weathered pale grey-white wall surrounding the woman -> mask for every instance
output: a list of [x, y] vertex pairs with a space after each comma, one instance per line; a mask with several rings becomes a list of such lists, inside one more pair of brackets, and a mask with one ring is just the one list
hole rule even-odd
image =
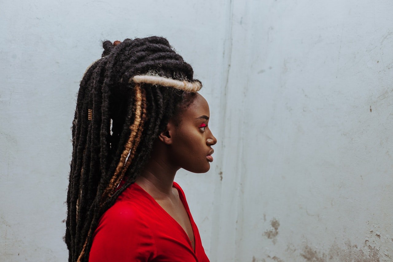
[[[66, 261], [71, 121], [102, 40], [163, 35], [219, 139], [181, 172], [211, 261], [393, 261], [393, 3], [2, 1], [0, 261]], [[371, 109], [371, 110], [370, 110]]]

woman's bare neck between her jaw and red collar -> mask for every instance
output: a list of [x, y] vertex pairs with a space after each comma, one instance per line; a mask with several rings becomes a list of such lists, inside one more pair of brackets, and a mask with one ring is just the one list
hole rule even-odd
[[152, 155], [141, 175], [136, 179], [141, 188], [148, 192], [154, 199], [163, 199], [173, 195], [172, 186], [174, 176], [179, 168], [169, 164], [165, 159], [167, 154], [152, 150]]

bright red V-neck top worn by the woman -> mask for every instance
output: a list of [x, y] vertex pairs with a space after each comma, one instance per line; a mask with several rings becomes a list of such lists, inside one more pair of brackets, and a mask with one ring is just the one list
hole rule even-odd
[[180, 186], [193, 228], [195, 252], [184, 229], [138, 184], [130, 185], [100, 218], [89, 261], [209, 262]]

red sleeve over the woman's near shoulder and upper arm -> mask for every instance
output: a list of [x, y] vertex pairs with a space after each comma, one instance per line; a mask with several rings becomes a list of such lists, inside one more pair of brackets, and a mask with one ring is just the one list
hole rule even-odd
[[156, 255], [151, 229], [138, 212], [112, 207], [94, 232], [89, 262], [150, 261]]

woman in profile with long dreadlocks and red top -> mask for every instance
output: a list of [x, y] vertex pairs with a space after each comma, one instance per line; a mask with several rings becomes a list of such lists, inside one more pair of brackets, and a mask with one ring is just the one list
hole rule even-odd
[[209, 261], [180, 168], [204, 173], [217, 140], [193, 69], [162, 37], [103, 43], [72, 127], [69, 261]]

